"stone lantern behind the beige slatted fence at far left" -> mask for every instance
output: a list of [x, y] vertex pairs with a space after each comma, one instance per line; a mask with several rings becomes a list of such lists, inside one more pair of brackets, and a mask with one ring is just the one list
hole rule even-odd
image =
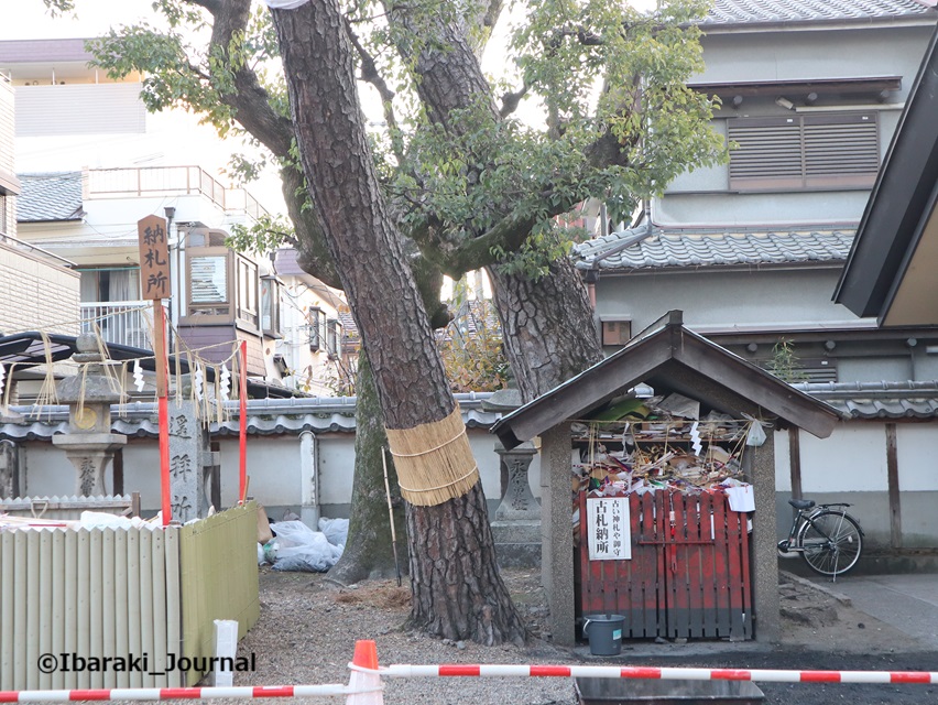
[[68, 433], [53, 436], [52, 443], [75, 466], [75, 494], [92, 497], [105, 494], [105, 470], [127, 436], [111, 433], [111, 404], [120, 401], [121, 392], [103, 373], [97, 337], [83, 333], [75, 347], [78, 352], [72, 359], [81, 369], [55, 386], [58, 400], [68, 404]]

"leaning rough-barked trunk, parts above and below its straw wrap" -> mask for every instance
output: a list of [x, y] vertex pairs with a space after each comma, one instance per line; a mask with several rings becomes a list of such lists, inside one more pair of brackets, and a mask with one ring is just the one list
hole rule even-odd
[[[374, 371], [385, 425], [413, 430], [439, 422], [456, 402], [379, 189], [338, 4], [315, 0], [274, 10], [273, 18], [301, 160]], [[454, 447], [471, 455], [465, 434]], [[526, 640], [499, 577], [491, 533], [477, 528], [488, 525], [479, 481], [443, 505], [411, 507], [408, 523], [416, 529], [410, 532], [415, 623], [483, 643]], [[449, 540], [433, 544], [439, 554], [430, 553], [439, 536]]]

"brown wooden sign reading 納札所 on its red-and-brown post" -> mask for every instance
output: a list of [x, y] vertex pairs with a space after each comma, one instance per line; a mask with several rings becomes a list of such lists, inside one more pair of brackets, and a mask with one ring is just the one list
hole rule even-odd
[[140, 241], [140, 284], [143, 299], [153, 301], [153, 354], [156, 357], [156, 402], [160, 414], [160, 492], [163, 525], [172, 520], [170, 497], [170, 404], [166, 356], [166, 315], [163, 299], [170, 297], [170, 241], [166, 219], [146, 216], [137, 223]]

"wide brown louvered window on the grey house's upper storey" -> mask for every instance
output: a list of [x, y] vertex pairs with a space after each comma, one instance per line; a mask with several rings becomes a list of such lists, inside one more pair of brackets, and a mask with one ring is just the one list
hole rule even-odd
[[876, 112], [727, 121], [730, 188], [869, 188], [880, 169]]

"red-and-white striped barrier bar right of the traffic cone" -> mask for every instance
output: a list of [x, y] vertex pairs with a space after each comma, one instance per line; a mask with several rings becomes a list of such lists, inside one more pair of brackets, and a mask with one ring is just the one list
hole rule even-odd
[[392, 677], [521, 676], [653, 679], [662, 681], [774, 681], [778, 683], [938, 683], [928, 671], [779, 671], [767, 669], [684, 669], [613, 665], [395, 664], [379, 669]]

